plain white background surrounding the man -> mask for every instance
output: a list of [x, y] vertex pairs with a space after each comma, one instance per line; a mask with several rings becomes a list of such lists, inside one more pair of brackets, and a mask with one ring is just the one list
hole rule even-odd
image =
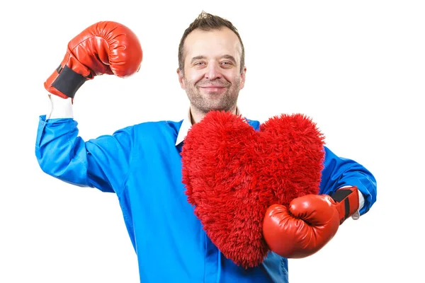
[[378, 180], [370, 212], [346, 221], [319, 253], [290, 260], [290, 282], [423, 280], [424, 2], [246, 2], [2, 2], [0, 282], [138, 282], [115, 195], [67, 185], [38, 166], [38, 117], [50, 109], [43, 82], [72, 37], [97, 21], [118, 21], [140, 37], [142, 69], [80, 88], [81, 136], [181, 120], [188, 100], [177, 49], [203, 10], [228, 18], [244, 40], [246, 117], [310, 115], [334, 153]]

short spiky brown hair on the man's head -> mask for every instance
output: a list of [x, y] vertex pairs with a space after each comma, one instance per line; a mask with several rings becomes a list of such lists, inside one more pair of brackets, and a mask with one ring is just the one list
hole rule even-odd
[[179, 69], [184, 74], [184, 54], [183, 54], [183, 45], [184, 41], [186, 40], [186, 37], [188, 37], [189, 33], [191, 33], [193, 30], [196, 30], [199, 28], [200, 30], [219, 30], [220, 28], [229, 28], [234, 32], [237, 37], [239, 38], [239, 42], [241, 42], [242, 46], [242, 54], [241, 54], [241, 72], [245, 67], [245, 49], [244, 44], [242, 43], [242, 39], [237, 31], [237, 28], [234, 27], [234, 25], [227, 21], [225, 18], [221, 18], [219, 16], [211, 15], [210, 13], [205, 13], [202, 11], [202, 13], [199, 14], [198, 18], [195, 19], [189, 25], [188, 28], [183, 33], [183, 36], [181, 37], [180, 44], [179, 44]]

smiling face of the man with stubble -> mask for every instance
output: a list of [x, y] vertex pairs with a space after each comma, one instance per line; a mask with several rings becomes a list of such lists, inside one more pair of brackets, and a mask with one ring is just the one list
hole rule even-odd
[[237, 35], [229, 28], [193, 30], [183, 50], [184, 74], [177, 72], [192, 110], [202, 114], [210, 110], [234, 111], [246, 72], [245, 67], [241, 72], [242, 46]]

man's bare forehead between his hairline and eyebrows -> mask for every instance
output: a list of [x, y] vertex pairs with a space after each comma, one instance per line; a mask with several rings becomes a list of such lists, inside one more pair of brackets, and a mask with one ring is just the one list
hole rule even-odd
[[221, 57], [232, 55], [239, 62], [242, 54], [239, 38], [229, 28], [193, 30], [186, 37], [183, 48], [186, 61], [197, 56]]

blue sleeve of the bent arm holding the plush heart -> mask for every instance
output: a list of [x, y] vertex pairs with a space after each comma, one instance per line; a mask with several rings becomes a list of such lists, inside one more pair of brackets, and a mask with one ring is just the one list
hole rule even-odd
[[320, 193], [331, 195], [341, 187], [356, 186], [363, 197], [359, 200], [359, 202], [363, 201], [363, 207], [361, 207], [359, 213], [363, 215], [368, 212], [376, 201], [377, 185], [373, 174], [356, 161], [336, 156], [326, 146], [324, 150], [324, 169]]

